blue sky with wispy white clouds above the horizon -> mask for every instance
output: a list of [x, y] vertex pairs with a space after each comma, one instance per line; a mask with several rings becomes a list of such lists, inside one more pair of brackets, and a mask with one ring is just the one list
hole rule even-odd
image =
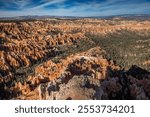
[[150, 14], [150, 0], [0, 0], [0, 17]]

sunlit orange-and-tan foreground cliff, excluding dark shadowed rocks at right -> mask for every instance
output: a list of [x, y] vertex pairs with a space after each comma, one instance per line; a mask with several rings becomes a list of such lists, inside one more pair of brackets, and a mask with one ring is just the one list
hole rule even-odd
[[[102, 51], [100, 48], [92, 50]], [[86, 54], [71, 55], [58, 63], [49, 60], [36, 67], [35, 75], [29, 76], [29, 84], [26, 84], [33, 89], [28, 94], [20, 90], [22, 96], [32, 99], [32, 92], [37, 99], [96, 99], [96, 90], [99, 90], [100, 81], [107, 77], [107, 70], [120, 68], [102, 57]]]

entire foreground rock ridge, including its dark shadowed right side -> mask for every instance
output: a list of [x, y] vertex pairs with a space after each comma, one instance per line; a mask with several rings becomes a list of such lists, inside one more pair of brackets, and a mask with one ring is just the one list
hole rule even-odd
[[[100, 48], [93, 50], [101, 51]], [[22, 85], [17, 99], [149, 99], [149, 72], [133, 77], [133, 66], [128, 72], [121, 70], [113, 61], [90, 56], [91, 50], [62, 59], [51, 60], [38, 66], [34, 76]], [[87, 55], [88, 54], [88, 55]], [[139, 76], [138, 75], [138, 76]], [[26, 89], [27, 88], [27, 89]], [[30, 90], [29, 90], [30, 89]]]

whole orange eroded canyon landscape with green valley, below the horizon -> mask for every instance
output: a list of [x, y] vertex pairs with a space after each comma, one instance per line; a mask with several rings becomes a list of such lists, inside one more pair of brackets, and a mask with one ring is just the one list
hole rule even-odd
[[150, 99], [150, 21], [0, 21], [0, 99]]

